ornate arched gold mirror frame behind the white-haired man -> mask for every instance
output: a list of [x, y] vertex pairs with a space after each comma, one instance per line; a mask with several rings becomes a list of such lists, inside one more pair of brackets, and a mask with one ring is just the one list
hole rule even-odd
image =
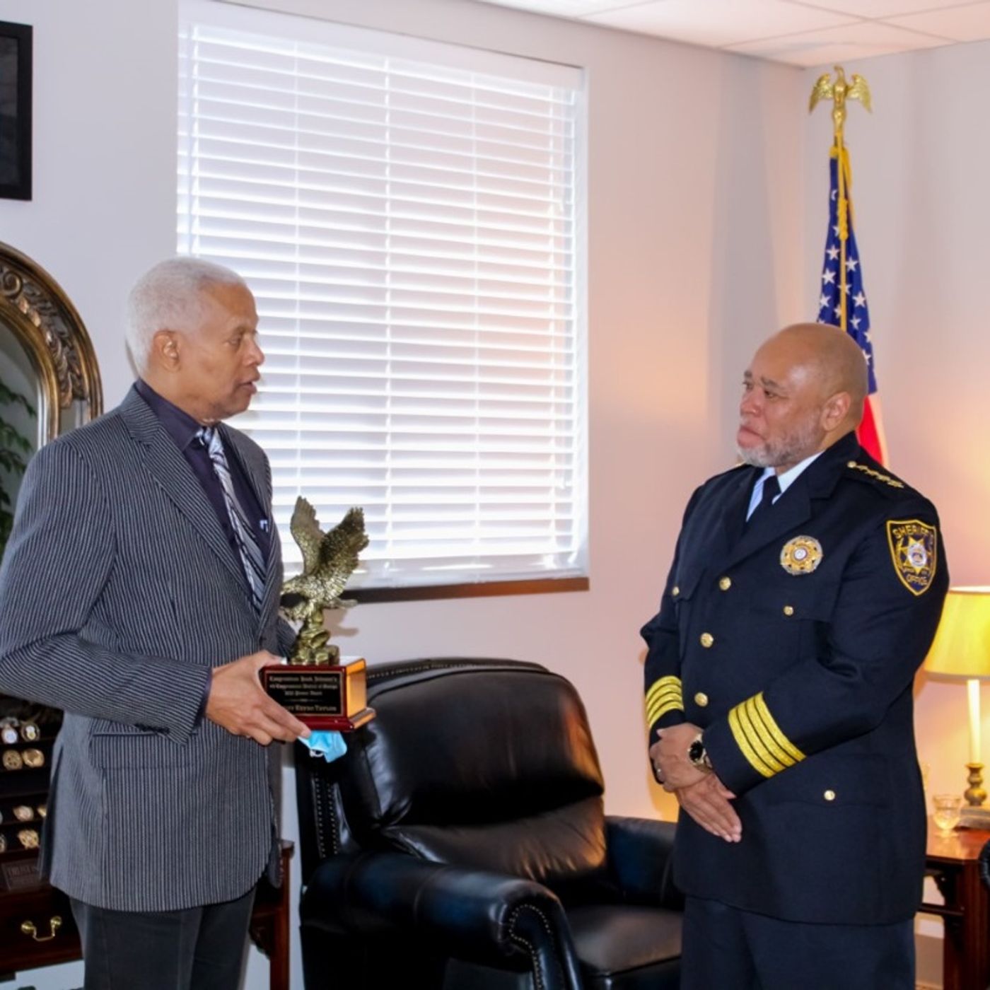
[[41, 443], [100, 415], [100, 372], [79, 314], [41, 265], [2, 243], [0, 325], [13, 332], [38, 376]]

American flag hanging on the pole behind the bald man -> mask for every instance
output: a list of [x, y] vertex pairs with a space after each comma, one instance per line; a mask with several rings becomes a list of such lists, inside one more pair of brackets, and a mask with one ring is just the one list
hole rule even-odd
[[840, 304], [841, 226], [839, 217], [839, 156], [832, 149], [829, 165], [829, 236], [825, 242], [825, 265], [822, 268], [822, 294], [818, 298], [818, 322], [831, 323], [842, 329], [859, 345], [869, 369], [869, 394], [863, 409], [863, 421], [856, 431], [860, 445], [880, 463], [887, 462], [887, 446], [880, 424], [880, 396], [876, 390], [876, 368], [873, 364], [873, 344], [869, 334], [869, 307], [863, 291], [862, 265], [859, 248], [852, 230], [852, 198], [849, 195], [849, 159], [842, 149], [843, 184], [848, 203], [848, 236], [845, 241], [845, 325], [842, 326]]

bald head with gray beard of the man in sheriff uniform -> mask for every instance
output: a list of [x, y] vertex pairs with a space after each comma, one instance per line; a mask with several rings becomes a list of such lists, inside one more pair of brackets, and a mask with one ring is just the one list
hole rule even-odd
[[746, 369], [740, 455], [778, 472], [793, 467], [858, 426], [867, 387], [862, 351], [838, 327], [785, 327]]

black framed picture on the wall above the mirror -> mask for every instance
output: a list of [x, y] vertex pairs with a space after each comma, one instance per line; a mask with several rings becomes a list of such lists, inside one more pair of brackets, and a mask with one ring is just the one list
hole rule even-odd
[[31, 199], [31, 44], [31, 25], [0, 21], [0, 198], [3, 199]]

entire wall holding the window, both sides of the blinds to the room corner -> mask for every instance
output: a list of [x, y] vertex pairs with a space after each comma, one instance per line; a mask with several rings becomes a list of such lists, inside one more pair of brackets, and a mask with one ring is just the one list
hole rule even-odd
[[[342, 643], [372, 662], [545, 662], [586, 701], [609, 810], [669, 817], [644, 759], [638, 630], [691, 489], [731, 462], [749, 351], [806, 313], [802, 73], [467, 0], [267, 6], [588, 70], [591, 591], [360, 606]], [[75, 302], [108, 407], [131, 380], [126, 291], [174, 246], [175, 18], [175, 0], [0, 0], [0, 19], [36, 30], [35, 199], [0, 201], [0, 241]], [[298, 949], [294, 972], [301, 985]], [[22, 982], [80, 980], [75, 967]], [[248, 985], [265, 985], [256, 954]]]

